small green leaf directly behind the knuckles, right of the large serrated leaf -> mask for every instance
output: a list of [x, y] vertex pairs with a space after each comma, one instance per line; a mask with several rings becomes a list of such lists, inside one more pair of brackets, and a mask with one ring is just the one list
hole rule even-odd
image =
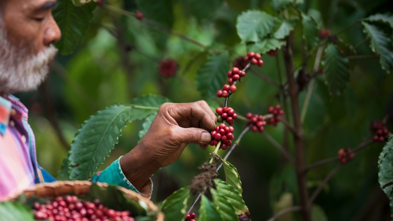
[[129, 113], [128, 122], [135, 120], [142, 120], [149, 115], [156, 114], [161, 104], [165, 102], [171, 102], [168, 98], [161, 95], [145, 94], [140, 97], [134, 98], [131, 104], [133, 106], [133, 112]]

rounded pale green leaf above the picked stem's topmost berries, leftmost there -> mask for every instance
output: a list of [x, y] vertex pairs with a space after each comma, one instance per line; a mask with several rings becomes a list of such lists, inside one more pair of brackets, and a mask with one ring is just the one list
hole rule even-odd
[[261, 11], [243, 12], [237, 17], [236, 29], [242, 42], [257, 42], [271, 33], [274, 17]]

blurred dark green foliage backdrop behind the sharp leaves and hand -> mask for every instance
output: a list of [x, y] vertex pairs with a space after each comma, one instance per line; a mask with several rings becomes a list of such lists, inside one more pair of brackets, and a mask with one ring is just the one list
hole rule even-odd
[[[173, 102], [214, 99], [214, 96], [200, 94], [195, 86], [198, 69], [209, 56], [207, 50], [227, 51], [231, 60], [244, 56], [246, 47], [236, 31], [237, 17], [249, 9], [277, 15], [271, 1], [108, 0], [105, 3], [129, 12], [141, 10], [146, 18], [205, 46], [133, 17], [96, 7], [87, 33], [75, 52], [57, 57], [50, 76], [37, 91], [17, 94], [30, 109], [29, 122], [36, 135], [38, 161], [54, 176], [80, 125], [106, 106], [128, 103], [147, 93], [161, 94]], [[88, 7], [94, 6], [89, 4]], [[391, 12], [393, 8], [388, 0], [305, 0], [300, 9], [316, 20], [318, 28], [329, 28], [332, 33], [338, 33], [360, 18]], [[294, 28], [295, 33], [301, 34], [298, 29]], [[341, 33], [340, 38], [355, 46], [366, 38], [362, 30], [361, 24], [357, 23]], [[300, 44], [295, 44], [295, 68], [302, 63], [301, 49]], [[372, 54], [368, 43], [361, 44], [357, 51], [358, 54]], [[167, 58], [178, 63], [174, 77], [164, 78], [159, 74], [159, 62]], [[265, 114], [269, 106], [282, 104], [279, 89], [260, 77], [263, 73], [279, 82], [277, 58], [283, 72], [281, 51], [277, 57], [264, 54], [264, 67], [254, 68], [257, 72], [248, 72], [244, 81], [239, 83], [229, 104], [236, 113], [243, 116], [247, 112]], [[312, 59], [309, 62], [313, 64]], [[323, 76], [316, 78], [304, 121], [308, 164], [336, 156], [339, 148], [356, 147], [370, 134], [372, 120], [381, 120], [393, 112], [392, 75], [381, 69], [378, 59], [350, 61], [350, 66], [353, 71], [349, 84], [338, 96], [330, 95]], [[210, 85], [209, 79], [206, 85]], [[305, 91], [302, 91], [301, 104], [304, 96]], [[136, 145], [142, 123], [129, 124], [123, 130], [119, 144], [102, 168]], [[237, 121], [234, 127], [236, 136], [244, 122]], [[283, 144], [283, 129], [284, 126], [279, 124], [276, 128], [268, 128], [267, 133]], [[318, 217], [326, 216], [329, 220], [385, 220], [390, 217], [387, 197], [377, 182], [377, 159], [381, 148], [382, 144], [373, 144], [364, 149], [334, 176], [315, 201], [320, 206], [315, 211], [322, 213]], [[153, 177], [152, 200], [159, 203], [173, 191], [188, 185], [199, 173], [198, 165], [206, 161], [212, 151], [213, 147], [203, 151], [189, 145], [178, 161]], [[253, 220], [271, 217], [282, 196], [282, 204], [292, 204], [288, 200], [292, 196], [295, 198], [293, 204], [298, 204], [296, 177], [291, 165], [283, 163], [279, 151], [263, 135], [247, 133], [228, 160], [241, 176], [243, 198]], [[310, 172], [307, 177], [310, 190], [315, 189], [336, 164]], [[290, 193], [289, 197], [285, 198], [288, 195], [283, 193]]]

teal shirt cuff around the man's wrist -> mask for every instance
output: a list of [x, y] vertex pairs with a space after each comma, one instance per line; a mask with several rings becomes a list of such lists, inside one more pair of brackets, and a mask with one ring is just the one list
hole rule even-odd
[[117, 186], [121, 186], [127, 188], [129, 190], [133, 190], [142, 196], [150, 199], [153, 191], [153, 182], [150, 179], [149, 183], [145, 185], [141, 190], [137, 190], [131, 182], [125, 177], [123, 171], [120, 167], [120, 156], [118, 159], [112, 162], [105, 170], [101, 173], [96, 173], [93, 178], [92, 182], [102, 182], [108, 184], [114, 184]]

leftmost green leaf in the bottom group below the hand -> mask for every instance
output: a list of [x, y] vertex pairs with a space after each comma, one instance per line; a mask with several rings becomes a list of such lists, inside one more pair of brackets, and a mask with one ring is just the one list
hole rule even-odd
[[184, 219], [187, 200], [190, 197], [189, 188], [183, 187], [172, 193], [162, 202], [161, 211], [165, 214], [165, 220]]

